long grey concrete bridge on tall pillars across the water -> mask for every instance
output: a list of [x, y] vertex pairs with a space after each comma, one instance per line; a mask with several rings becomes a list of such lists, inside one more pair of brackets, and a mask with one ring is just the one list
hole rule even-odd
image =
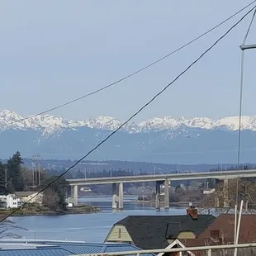
[[[229, 206], [228, 200], [228, 180], [232, 178], [250, 178], [256, 177], [256, 169], [252, 170], [230, 170], [220, 172], [202, 172], [202, 173], [171, 173], [171, 174], [157, 174], [157, 175], [138, 175], [138, 176], [124, 176], [124, 177], [107, 177], [107, 178], [78, 178], [68, 179], [70, 186], [73, 188], [73, 204], [78, 205], [78, 186], [85, 185], [99, 185], [99, 184], [112, 184], [112, 209], [123, 209], [123, 183], [144, 183], [155, 182], [156, 183], [156, 198], [155, 208], [160, 209], [160, 186], [164, 184], [164, 209], [169, 208], [169, 184], [171, 181], [183, 181], [194, 179], [220, 179], [224, 181], [224, 207]], [[117, 192], [117, 184], [118, 192]]]

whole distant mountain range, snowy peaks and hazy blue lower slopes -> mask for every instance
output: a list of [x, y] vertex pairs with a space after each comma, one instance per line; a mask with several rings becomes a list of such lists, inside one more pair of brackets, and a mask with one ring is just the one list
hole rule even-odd
[[[24, 120], [13, 111], [0, 111], [0, 159], [17, 150], [30, 158], [78, 159], [105, 140], [121, 121], [98, 116], [84, 121], [41, 115]], [[23, 121], [22, 121], [23, 120]], [[235, 163], [239, 118], [175, 119], [170, 116], [131, 122], [88, 159], [154, 163]], [[256, 116], [243, 116], [241, 161], [255, 162]]]

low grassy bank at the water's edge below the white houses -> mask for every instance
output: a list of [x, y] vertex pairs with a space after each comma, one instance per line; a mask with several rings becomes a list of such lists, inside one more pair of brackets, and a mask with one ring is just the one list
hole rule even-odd
[[[8, 215], [15, 209], [11, 210], [0, 210], [0, 215]], [[40, 205], [29, 205], [24, 206], [19, 209], [12, 216], [58, 216], [58, 215], [68, 215], [68, 214], [86, 214], [86, 213], [96, 213], [101, 211], [98, 207], [93, 206], [74, 206], [66, 209], [51, 210], [48, 207]]]

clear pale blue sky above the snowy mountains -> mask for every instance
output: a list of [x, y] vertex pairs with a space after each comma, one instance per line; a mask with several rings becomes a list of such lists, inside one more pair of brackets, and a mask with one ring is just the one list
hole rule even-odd
[[[113, 83], [175, 50], [250, 1], [2, 1], [0, 110], [28, 116]], [[245, 12], [243, 12], [245, 13]], [[241, 17], [242, 14], [239, 14]], [[52, 111], [125, 120], [232, 26], [233, 18], [159, 64], [92, 97]], [[135, 121], [239, 113], [239, 45], [252, 14]], [[256, 20], [248, 44], [256, 43]], [[256, 115], [256, 50], [245, 54], [243, 114]]]

